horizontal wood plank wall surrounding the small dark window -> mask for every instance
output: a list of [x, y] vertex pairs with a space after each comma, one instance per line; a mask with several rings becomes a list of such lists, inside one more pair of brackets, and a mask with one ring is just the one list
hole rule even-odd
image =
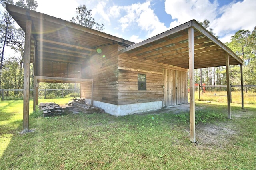
[[[138, 74], [146, 75], [146, 90], [138, 90]], [[118, 56], [118, 105], [163, 100], [163, 69], [160, 65], [126, 55]]]

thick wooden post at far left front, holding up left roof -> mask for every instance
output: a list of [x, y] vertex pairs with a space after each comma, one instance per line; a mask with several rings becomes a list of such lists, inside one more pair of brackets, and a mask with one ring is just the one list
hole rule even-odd
[[24, 50], [24, 81], [23, 81], [23, 132], [28, 132], [29, 128], [29, 77], [30, 77], [30, 43], [31, 43], [31, 25], [27, 20], [25, 32], [25, 50]]

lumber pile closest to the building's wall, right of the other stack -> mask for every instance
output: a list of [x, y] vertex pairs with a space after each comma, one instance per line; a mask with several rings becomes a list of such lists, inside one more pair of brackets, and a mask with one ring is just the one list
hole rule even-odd
[[98, 109], [95, 107], [91, 107], [89, 105], [87, 105], [85, 103], [85, 99], [83, 98], [73, 98], [71, 99], [72, 101], [68, 102], [66, 104], [66, 109], [68, 109], [68, 111], [73, 112], [74, 114], [76, 113], [99, 113], [99, 112], [104, 112], [104, 110], [102, 109]]

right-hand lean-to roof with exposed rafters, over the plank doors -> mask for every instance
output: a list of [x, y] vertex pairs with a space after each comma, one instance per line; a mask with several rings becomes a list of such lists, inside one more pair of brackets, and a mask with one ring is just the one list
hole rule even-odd
[[229, 54], [230, 65], [243, 61], [231, 49], [203, 28], [196, 20], [191, 20], [148, 40], [136, 43], [118, 53], [130, 57], [188, 69], [188, 28], [194, 28], [195, 68], [226, 65]]

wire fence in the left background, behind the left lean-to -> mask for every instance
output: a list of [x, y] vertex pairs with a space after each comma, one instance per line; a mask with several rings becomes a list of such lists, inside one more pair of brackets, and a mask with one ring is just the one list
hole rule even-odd
[[[1, 100], [23, 99], [23, 89], [1, 89]], [[34, 90], [30, 89], [30, 98]], [[78, 97], [80, 89], [38, 89], [38, 98], [52, 99], [63, 97]]]

